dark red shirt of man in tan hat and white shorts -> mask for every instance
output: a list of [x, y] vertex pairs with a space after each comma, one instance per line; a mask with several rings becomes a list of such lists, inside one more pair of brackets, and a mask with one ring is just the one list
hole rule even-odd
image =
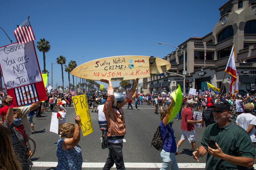
[[181, 129], [191, 131], [194, 128], [193, 123], [188, 123], [187, 120], [194, 120], [192, 108], [186, 107], [182, 110]]

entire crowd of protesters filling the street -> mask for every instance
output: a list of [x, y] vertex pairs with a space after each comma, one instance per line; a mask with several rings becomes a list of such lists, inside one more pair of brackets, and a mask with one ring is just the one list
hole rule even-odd
[[[160, 134], [163, 139], [163, 146], [160, 153], [162, 158], [161, 170], [179, 169], [176, 156], [181, 155], [179, 147], [186, 140], [191, 143], [193, 158], [199, 162], [200, 157], [207, 154], [205, 169], [254, 169], [255, 158], [255, 126], [256, 126], [256, 102], [254, 95], [242, 97], [236, 94], [234, 98], [230, 94], [223, 95], [198, 95], [185, 96], [183, 98], [180, 112], [175, 119], [181, 119], [181, 138], [176, 143], [173, 121], [169, 122], [175, 102], [169, 94], [147, 94], [139, 95], [135, 93], [138, 79], [134, 80], [134, 85], [129, 92], [114, 93], [112, 83], [108, 79], [101, 79], [101, 82], [108, 84], [107, 94], [101, 95], [100, 103], [97, 102], [97, 91], [90, 95], [92, 112], [99, 115], [99, 125], [107, 125], [107, 139], [109, 153], [104, 170], [110, 169], [116, 164], [117, 169], [125, 169], [123, 159], [123, 138], [126, 134], [124, 111], [122, 107], [128, 103], [128, 108], [132, 108], [132, 101], [135, 107], [140, 107], [143, 102], [147, 104], [153, 102], [155, 113], [160, 111]], [[41, 117], [42, 112], [50, 112], [53, 107], [58, 107], [57, 117], [59, 119], [60, 138], [57, 142], [58, 166], [56, 169], [81, 169], [83, 158], [80, 140], [80, 117], [75, 116], [75, 124], [66, 122], [65, 105], [71, 106], [72, 98], [68, 94], [48, 94], [44, 102], [33, 103], [19, 108], [9, 107], [12, 97], [7, 94], [0, 95], [1, 108], [0, 115], [1, 128], [1, 149], [0, 166], [2, 169], [23, 169], [29, 168], [33, 164], [30, 160], [32, 151], [28, 139], [34, 134], [33, 116]], [[89, 102], [88, 102], [89, 103]], [[97, 104], [99, 106], [97, 106]], [[167, 109], [165, 109], [167, 108]], [[202, 109], [202, 119], [194, 120], [192, 110]], [[230, 121], [231, 114], [237, 115], [235, 123]], [[199, 147], [195, 143], [194, 124], [201, 123], [205, 126], [205, 131]], [[7, 135], [8, 134], [8, 135]], [[103, 133], [102, 133], [103, 137]], [[177, 137], [177, 136], [176, 136]], [[228, 140], [226, 140], [228, 138]], [[5, 159], [6, 158], [6, 159]], [[11, 163], [7, 161], [12, 160]]]

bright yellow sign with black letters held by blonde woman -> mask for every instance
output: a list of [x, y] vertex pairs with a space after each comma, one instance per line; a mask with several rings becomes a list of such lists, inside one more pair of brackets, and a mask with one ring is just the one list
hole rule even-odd
[[92, 120], [86, 94], [73, 96], [72, 99], [75, 107], [75, 112], [81, 118], [80, 124], [81, 129], [83, 131], [83, 135], [86, 136], [93, 132]]

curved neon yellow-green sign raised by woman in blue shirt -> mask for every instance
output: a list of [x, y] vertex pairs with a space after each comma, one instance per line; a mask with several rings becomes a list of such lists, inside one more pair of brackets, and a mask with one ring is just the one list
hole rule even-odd
[[174, 92], [172, 92], [170, 95], [173, 98], [175, 105], [171, 114], [171, 117], [168, 121], [168, 123], [177, 115], [177, 113], [179, 113], [179, 111], [181, 110], [181, 105], [182, 105], [182, 100], [183, 100], [183, 96], [182, 96], [182, 92], [181, 92], [181, 87], [180, 84], [178, 85], [178, 89], [175, 90]]

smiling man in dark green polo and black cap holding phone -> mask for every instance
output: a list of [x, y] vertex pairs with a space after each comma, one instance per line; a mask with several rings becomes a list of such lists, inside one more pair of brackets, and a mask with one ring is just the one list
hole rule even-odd
[[[245, 170], [252, 167], [255, 148], [249, 134], [240, 126], [229, 121], [232, 106], [221, 100], [211, 106], [216, 123], [207, 126], [203, 133], [201, 146], [193, 152], [193, 158], [199, 158], [207, 152], [205, 169], [207, 170]], [[217, 149], [208, 146], [208, 139], [215, 140]]]

